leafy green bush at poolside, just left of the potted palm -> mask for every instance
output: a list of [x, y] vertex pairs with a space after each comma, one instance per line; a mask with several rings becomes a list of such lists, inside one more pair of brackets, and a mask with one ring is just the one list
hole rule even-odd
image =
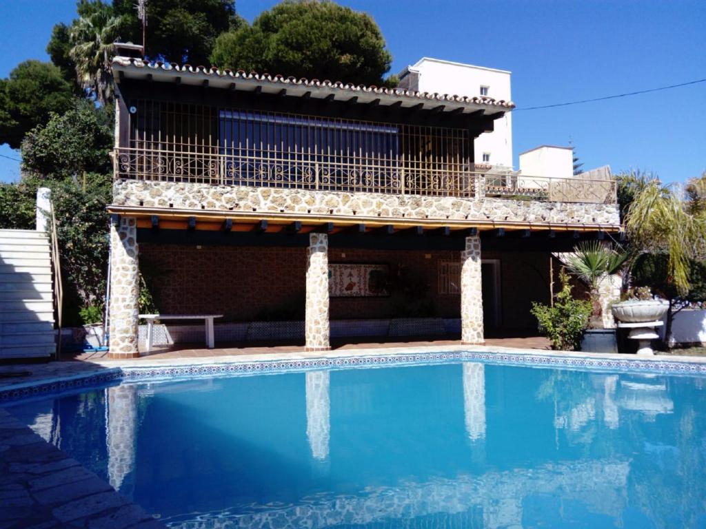
[[539, 322], [539, 332], [551, 341], [551, 348], [560, 351], [578, 351], [581, 339], [591, 317], [590, 301], [574, 299], [569, 276], [562, 269], [559, 274], [561, 291], [554, 305], [532, 303], [532, 315]]

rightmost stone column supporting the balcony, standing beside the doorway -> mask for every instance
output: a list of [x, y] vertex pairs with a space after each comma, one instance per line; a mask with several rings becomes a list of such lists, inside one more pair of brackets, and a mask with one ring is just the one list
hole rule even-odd
[[483, 344], [483, 295], [481, 292], [481, 238], [466, 237], [461, 253], [461, 341]]

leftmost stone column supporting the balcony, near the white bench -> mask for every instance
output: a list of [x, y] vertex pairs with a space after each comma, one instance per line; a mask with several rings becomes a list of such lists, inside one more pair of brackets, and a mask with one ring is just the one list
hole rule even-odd
[[136, 358], [138, 352], [137, 219], [120, 217], [110, 225], [110, 358]]

